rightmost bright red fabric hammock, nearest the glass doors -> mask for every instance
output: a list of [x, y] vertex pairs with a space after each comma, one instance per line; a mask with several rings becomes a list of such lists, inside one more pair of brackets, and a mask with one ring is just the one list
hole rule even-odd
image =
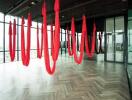
[[85, 36], [85, 48], [86, 48], [86, 54], [89, 58], [92, 58], [94, 55], [94, 51], [95, 51], [95, 33], [96, 33], [96, 25], [95, 22], [93, 24], [93, 34], [92, 34], [92, 44], [91, 44], [91, 50], [89, 48], [89, 40], [88, 40], [88, 36], [87, 36], [87, 32], [86, 32], [86, 36]]

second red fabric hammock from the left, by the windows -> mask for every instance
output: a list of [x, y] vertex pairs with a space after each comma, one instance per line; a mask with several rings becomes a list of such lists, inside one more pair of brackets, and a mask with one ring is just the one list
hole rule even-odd
[[22, 63], [25, 66], [29, 65], [30, 61], [30, 40], [31, 40], [31, 14], [28, 14], [28, 27], [27, 27], [27, 48], [25, 49], [25, 37], [24, 37], [24, 17], [22, 17], [22, 26], [21, 26], [21, 57]]

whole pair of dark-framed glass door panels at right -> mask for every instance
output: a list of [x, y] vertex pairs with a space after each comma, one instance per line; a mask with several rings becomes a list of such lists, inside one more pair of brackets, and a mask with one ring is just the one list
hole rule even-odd
[[106, 19], [107, 61], [124, 62], [124, 17]]

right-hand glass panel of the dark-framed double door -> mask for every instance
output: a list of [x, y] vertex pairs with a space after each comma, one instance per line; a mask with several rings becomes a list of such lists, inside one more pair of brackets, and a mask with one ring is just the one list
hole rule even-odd
[[124, 62], [124, 17], [115, 18], [115, 61]]

